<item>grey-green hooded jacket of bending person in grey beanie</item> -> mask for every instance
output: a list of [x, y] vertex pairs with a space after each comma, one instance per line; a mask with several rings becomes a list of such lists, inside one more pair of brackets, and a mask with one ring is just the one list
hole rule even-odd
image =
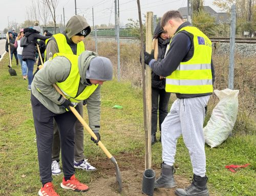
[[[86, 71], [89, 68], [90, 61], [93, 56], [97, 56], [92, 51], [84, 51], [78, 57], [78, 69], [80, 75], [80, 84], [78, 91], [82, 91], [88, 85], [94, 85], [87, 81]], [[32, 94], [46, 107], [55, 114], [65, 113], [66, 110], [60, 106], [65, 101], [63, 97], [54, 89], [53, 85], [56, 82], [65, 81], [70, 73], [71, 63], [64, 56], [57, 56], [52, 60], [45, 62], [44, 67], [37, 72], [32, 84]], [[59, 99], [59, 100], [58, 100]], [[89, 116], [89, 126], [97, 132], [100, 124], [100, 85], [87, 99], [87, 110]]]

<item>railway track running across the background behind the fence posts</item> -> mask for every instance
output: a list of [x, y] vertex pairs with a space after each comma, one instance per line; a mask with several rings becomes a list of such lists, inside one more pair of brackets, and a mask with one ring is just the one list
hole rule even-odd
[[[94, 37], [94, 36], [90, 36]], [[115, 38], [115, 36], [97, 36], [101, 38]], [[120, 39], [139, 39], [138, 37], [120, 37]], [[211, 42], [226, 42], [230, 41], [230, 38], [221, 38], [221, 37], [211, 37]], [[236, 38], [236, 43], [256, 43], [256, 39], [253, 38]]]

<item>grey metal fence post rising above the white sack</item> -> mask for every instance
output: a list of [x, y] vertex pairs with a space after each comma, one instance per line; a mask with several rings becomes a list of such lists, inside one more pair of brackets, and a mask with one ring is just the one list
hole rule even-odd
[[236, 38], [236, 5], [231, 6], [228, 88], [234, 89], [234, 49]]

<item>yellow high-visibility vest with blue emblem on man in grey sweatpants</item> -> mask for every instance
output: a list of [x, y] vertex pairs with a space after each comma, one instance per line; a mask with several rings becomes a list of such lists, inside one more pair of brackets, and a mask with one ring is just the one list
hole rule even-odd
[[180, 94], [211, 93], [211, 41], [196, 27], [184, 27], [178, 32], [180, 31], [194, 36], [191, 43], [194, 44], [194, 54], [188, 61], [181, 62], [178, 68], [166, 77], [165, 91]]

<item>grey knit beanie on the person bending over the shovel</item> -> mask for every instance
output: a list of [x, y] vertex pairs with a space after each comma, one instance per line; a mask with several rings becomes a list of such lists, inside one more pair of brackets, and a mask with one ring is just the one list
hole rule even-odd
[[112, 80], [113, 77], [113, 66], [110, 59], [97, 56], [90, 62], [89, 68], [86, 71], [87, 79], [95, 80]]

